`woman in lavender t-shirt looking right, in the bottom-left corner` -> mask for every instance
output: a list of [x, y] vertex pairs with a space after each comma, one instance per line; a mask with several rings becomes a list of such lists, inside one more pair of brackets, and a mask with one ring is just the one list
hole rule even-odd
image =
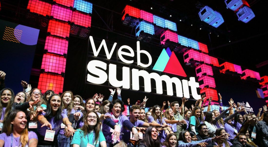
[[[27, 131], [27, 119], [24, 112], [14, 110], [4, 121], [0, 134], [0, 146], [36, 147], [38, 138], [35, 132]], [[26, 139], [27, 138], [27, 139]]]

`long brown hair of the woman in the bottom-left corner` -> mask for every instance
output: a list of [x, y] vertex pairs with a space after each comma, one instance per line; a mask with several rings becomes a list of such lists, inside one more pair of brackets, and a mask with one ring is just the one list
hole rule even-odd
[[[6, 133], [7, 136], [12, 134], [13, 124], [11, 124], [11, 122], [15, 119], [18, 112], [23, 112], [23, 111], [14, 110], [14, 111], [9, 113], [8, 117], [3, 121], [4, 125], [2, 128], [2, 133]], [[29, 142], [27, 124], [25, 124], [25, 128], [23, 129], [22, 133], [20, 134], [20, 142], [21, 142], [21, 147], [25, 147]]]

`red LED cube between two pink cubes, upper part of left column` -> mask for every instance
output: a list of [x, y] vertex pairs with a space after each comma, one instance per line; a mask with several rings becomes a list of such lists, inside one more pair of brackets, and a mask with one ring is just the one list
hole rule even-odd
[[64, 22], [51, 19], [49, 20], [47, 32], [50, 32], [51, 35], [57, 35], [60, 37], [69, 37], [70, 25], [68, 23], [64, 23]]

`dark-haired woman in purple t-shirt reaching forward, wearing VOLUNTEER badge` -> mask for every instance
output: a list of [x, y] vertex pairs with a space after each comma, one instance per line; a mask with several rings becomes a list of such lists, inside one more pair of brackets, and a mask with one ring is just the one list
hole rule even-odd
[[[63, 103], [61, 97], [58, 94], [53, 94], [49, 97], [47, 102], [46, 113], [42, 112], [37, 116], [38, 119], [38, 145], [42, 146], [58, 146], [57, 136], [59, 134], [59, 128], [61, 123], [67, 126], [65, 135], [70, 137], [73, 136], [75, 130], [72, 128], [72, 123], [70, 123], [66, 114], [62, 113]], [[50, 129], [55, 131], [53, 141], [45, 141], [46, 131]], [[56, 139], [55, 139], [56, 138]]]

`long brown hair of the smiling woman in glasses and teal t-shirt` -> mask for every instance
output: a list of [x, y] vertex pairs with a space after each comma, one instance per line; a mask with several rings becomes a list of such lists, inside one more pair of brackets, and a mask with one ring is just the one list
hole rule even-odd
[[[96, 125], [94, 126], [94, 132], [95, 132], [95, 138], [94, 138], [94, 140], [95, 140], [95, 142], [98, 142], [98, 139], [99, 139], [99, 132], [100, 132], [100, 130], [101, 130], [101, 123], [100, 123], [100, 118], [99, 118], [99, 116], [98, 116], [98, 113], [97, 112], [95, 112], [94, 110], [93, 111], [89, 111], [89, 112], [87, 112], [86, 113], [86, 115], [85, 115], [85, 119], [84, 119], [84, 126], [81, 128], [81, 130], [82, 131], [84, 131], [84, 136], [86, 136], [88, 133], [89, 133], [89, 127], [88, 127], [88, 125], [87, 125], [87, 116], [88, 116], [88, 114], [89, 113], [95, 113], [96, 114], [96, 116], [97, 116], [97, 120], [96, 120]], [[94, 143], [94, 142], [93, 142]]]

